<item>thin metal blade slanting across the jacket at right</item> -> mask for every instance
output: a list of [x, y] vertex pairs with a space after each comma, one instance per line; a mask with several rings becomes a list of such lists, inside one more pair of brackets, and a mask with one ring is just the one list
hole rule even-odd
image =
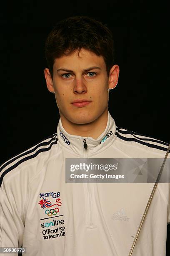
[[158, 177], [157, 177], [157, 179], [156, 179], [156, 181], [155, 181], [153, 190], [152, 190], [152, 192], [151, 192], [151, 194], [150, 194], [150, 198], [149, 198], [149, 200], [148, 200], [148, 203], [147, 203], [147, 205], [146, 205], [146, 208], [145, 208], [145, 211], [144, 211], [144, 213], [143, 213], [142, 219], [141, 219], [141, 221], [140, 221], [140, 225], [139, 225], [138, 231], [137, 231], [137, 233], [136, 233], [136, 236], [135, 236], [135, 238], [134, 238], [134, 240], [133, 240], [133, 244], [132, 244], [132, 247], [131, 247], [131, 249], [130, 249], [129, 256], [131, 256], [132, 253], [133, 253], [133, 248], [134, 248], [135, 243], [136, 243], [136, 241], [137, 241], [137, 238], [138, 238], [138, 236], [139, 236], [140, 229], [141, 229], [141, 227], [142, 227], [143, 221], [144, 221], [144, 219], [145, 219], [145, 215], [146, 215], [146, 213], [147, 213], [147, 211], [148, 211], [148, 208], [149, 208], [150, 203], [151, 203], [151, 200], [152, 200], [152, 198], [153, 198], [155, 189], [156, 189], [157, 184], [158, 184], [158, 182], [159, 182], [160, 175], [161, 175], [161, 173], [162, 173], [162, 171], [163, 171], [163, 167], [164, 167], [164, 165], [165, 165], [165, 161], [166, 161], [166, 159], [167, 159], [167, 157], [168, 157], [169, 151], [170, 151], [170, 145], [169, 145], [168, 150], [167, 150], [167, 152], [166, 152], [165, 158], [164, 158], [164, 160], [163, 160], [163, 164], [162, 164], [162, 166], [161, 166], [161, 168], [160, 168]]

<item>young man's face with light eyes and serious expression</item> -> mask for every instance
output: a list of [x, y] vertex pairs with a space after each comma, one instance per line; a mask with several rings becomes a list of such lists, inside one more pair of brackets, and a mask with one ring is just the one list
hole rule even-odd
[[107, 109], [108, 77], [102, 56], [81, 49], [79, 56], [76, 51], [55, 59], [51, 83], [61, 119], [91, 123]]

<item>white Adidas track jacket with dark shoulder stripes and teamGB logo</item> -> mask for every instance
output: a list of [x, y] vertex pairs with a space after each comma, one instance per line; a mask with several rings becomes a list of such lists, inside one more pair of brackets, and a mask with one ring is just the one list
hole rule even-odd
[[[68, 134], [60, 120], [57, 133], [0, 168], [0, 247], [26, 247], [23, 256], [128, 256], [154, 184], [66, 183], [65, 159], [164, 158], [167, 149], [118, 128], [109, 112], [97, 139]], [[165, 256], [169, 222], [170, 184], [160, 183], [132, 255]]]

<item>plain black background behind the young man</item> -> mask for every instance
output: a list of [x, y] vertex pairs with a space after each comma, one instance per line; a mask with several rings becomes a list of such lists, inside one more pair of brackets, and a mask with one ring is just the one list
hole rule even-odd
[[57, 130], [44, 45], [55, 23], [73, 15], [96, 18], [113, 32], [120, 79], [110, 92], [109, 111], [116, 125], [170, 142], [168, 10], [168, 1], [135, 0], [16, 1], [2, 8], [0, 162]]

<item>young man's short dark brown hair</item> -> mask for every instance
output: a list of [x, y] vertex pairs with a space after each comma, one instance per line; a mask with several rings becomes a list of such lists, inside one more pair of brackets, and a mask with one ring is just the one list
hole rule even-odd
[[45, 57], [51, 77], [53, 78], [53, 64], [56, 58], [75, 51], [79, 54], [81, 48], [102, 56], [109, 76], [110, 69], [115, 64], [112, 32], [93, 18], [73, 16], [59, 21], [47, 36]]

